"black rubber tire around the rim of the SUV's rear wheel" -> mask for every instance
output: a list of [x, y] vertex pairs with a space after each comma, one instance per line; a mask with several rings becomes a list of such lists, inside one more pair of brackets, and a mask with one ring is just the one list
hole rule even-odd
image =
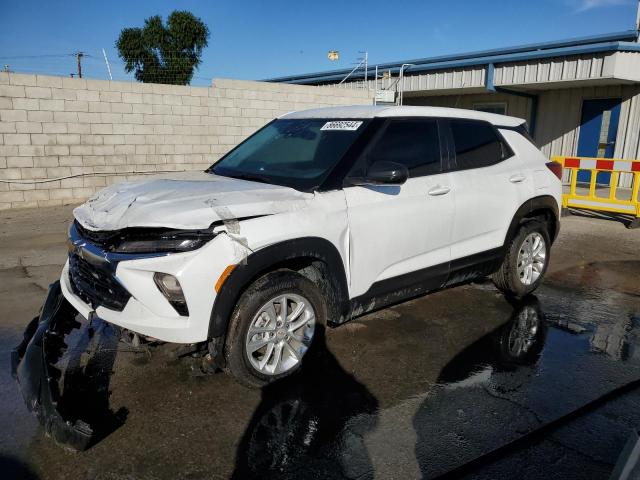
[[[518, 254], [520, 249], [531, 233], [538, 233], [542, 236], [545, 242], [546, 258], [544, 267], [540, 272], [538, 278], [530, 284], [524, 283], [520, 275], [518, 274]], [[547, 223], [540, 220], [531, 220], [524, 223], [516, 232], [515, 236], [511, 239], [507, 246], [507, 251], [502, 261], [500, 269], [491, 276], [491, 280], [499, 290], [506, 295], [516, 298], [524, 297], [533, 292], [544, 278], [544, 275], [549, 266], [549, 259], [551, 254], [551, 239], [549, 237], [549, 230]]]

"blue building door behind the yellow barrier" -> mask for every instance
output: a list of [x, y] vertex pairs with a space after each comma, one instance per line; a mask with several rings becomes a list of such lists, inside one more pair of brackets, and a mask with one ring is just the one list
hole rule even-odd
[[[578, 156], [613, 158], [620, 119], [620, 99], [600, 98], [582, 102]], [[591, 172], [579, 171], [578, 182], [589, 183]], [[611, 174], [600, 172], [596, 183], [609, 185]]]

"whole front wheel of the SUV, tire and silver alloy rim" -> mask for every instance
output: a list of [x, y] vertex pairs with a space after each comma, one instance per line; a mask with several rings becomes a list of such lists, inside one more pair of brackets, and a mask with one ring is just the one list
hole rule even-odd
[[252, 387], [294, 373], [325, 318], [324, 300], [309, 279], [291, 270], [264, 275], [245, 290], [231, 317], [228, 373]]

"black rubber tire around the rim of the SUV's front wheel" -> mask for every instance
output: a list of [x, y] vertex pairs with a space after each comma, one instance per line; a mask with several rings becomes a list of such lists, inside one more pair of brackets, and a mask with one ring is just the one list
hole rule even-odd
[[[286, 293], [300, 295], [311, 303], [315, 314], [316, 333], [326, 325], [326, 304], [320, 290], [311, 280], [292, 270], [276, 270], [258, 278], [240, 296], [231, 315], [225, 341], [225, 371], [245, 386], [263, 387], [292, 375], [304, 363], [300, 361], [284, 373], [265, 375], [251, 364], [246, 352], [245, 340], [254, 316], [270, 299]], [[314, 334], [312, 342], [315, 343], [315, 340], [317, 336]], [[302, 360], [308, 355], [309, 352]]]

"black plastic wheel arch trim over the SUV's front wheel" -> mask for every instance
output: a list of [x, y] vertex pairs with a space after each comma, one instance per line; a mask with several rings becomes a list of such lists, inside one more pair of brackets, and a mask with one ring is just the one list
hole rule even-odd
[[[211, 310], [208, 338], [223, 337], [244, 290], [260, 276], [290, 268], [320, 285], [327, 298], [328, 318], [340, 323], [348, 315], [349, 292], [344, 263], [337, 248], [320, 237], [286, 240], [257, 250], [225, 280]], [[314, 275], [319, 277], [314, 278]]]

